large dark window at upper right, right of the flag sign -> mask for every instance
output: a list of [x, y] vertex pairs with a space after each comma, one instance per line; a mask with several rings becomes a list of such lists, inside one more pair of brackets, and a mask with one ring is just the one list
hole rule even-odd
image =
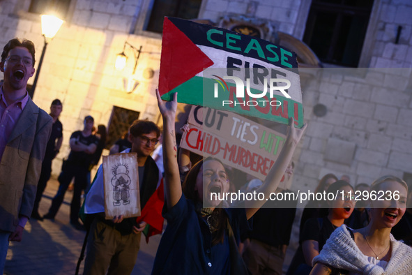
[[313, 0], [303, 41], [323, 63], [357, 67], [373, 0]]

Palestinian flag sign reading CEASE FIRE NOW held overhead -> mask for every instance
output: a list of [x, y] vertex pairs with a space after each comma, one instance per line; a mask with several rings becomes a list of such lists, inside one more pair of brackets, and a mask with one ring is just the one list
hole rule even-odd
[[296, 54], [266, 40], [165, 17], [159, 91], [170, 101], [303, 125]]

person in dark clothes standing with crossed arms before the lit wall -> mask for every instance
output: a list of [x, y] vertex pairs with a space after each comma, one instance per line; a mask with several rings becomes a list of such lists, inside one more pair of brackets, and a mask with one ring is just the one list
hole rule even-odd
[[79, 223], [79, 211], [81, 205], [82, 191], [87, 187], [89, 166], [93, 160], [93, 154], [98, 146], [98, 138], [92, 134], [94, 119], [91, 116], [84, 118], [84, 128], [82, 131], [75, 131], [70, 136], [70, 154], [68, 159], [63, 162], [59, 175], [59, 190], [52, 200], [49, 211], [43, 218], [54, 220], [64, 194], [66, 193], [73, 177], [75, 178], [75, 188], [70, 204], [70, 224], [77, 230], [84, 230]]

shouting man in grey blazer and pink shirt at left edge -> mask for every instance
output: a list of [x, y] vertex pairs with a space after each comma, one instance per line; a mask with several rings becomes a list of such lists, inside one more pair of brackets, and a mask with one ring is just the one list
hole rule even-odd
[[0, 272], [9, 241], [21, 241], [31, 215], [52, 117], [31, 101], [27, 80], [34, 74], [34, 45], [17, 38], [1, 53], [0, 88]]

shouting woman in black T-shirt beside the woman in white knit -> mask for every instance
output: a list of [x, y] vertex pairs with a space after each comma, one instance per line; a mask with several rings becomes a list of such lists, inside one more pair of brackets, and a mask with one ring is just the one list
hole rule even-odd
[[313, 258], [319, 255], [330, 234], [351, 216], [355, 207], [352, 186], [346, 181], [338, 180], [326, 190], [326, 194], [330, 193], [338, 195], [335, 200], [323, 200], [321, 207], [328, 209], [328, 215], [306, 221], [300, 232], [298, 250], [287, 274], [309, 274]]

